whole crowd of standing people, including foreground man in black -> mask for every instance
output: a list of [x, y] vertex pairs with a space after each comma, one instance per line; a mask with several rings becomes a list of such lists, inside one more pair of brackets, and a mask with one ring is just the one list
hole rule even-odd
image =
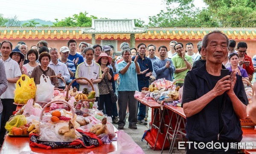
[[[212, 38], [213, 35], [217, 39]], [[183, 95], [182, 105], [188, 117], [186, 124], [188, 139], [195, 142], [215, 139], [211, 136], [214, 133], [210, 134], [208, 131], [219, 131], [220, 127], [226, 126], [227, 119], [212, 120], [212, 115], [217, 113], [215, 116], [218, 117], [219, 112], [209, 112], [209, 110], [219, 111], [222, 107], [224, 108], [221, 105], [222, 99], [228, 97], [225, 108], [231, 111], [227, 111], [227, 116], [236, 122], [239, 122], [238, 118], [244, 118], [248, 102], [244, 98], [240, 79], [247, 78], [252, 81], [254, 67], [256, 67], [256, 56], [252, 59], [246, 54], [245, 42], [239, 42], [236, 46], [236, 41], [224, 36], [221, 32], [209, 33], [203, 41], [198, 42], [197, 53], [194, 51], [194, 44], [190, 42], [183, 46], [182, 43], [171, 41], [170, 51], [164, 45], [157, 48], [153, 44], [147, 46], [141, 43], [137, 48], [130, 48], [127, 42], [123, 42], [120, 45], [122, 51], [120, 56], [114, 55], [112, 45], [101, 46], [81, 42], [77, 46], [76, 40], [73, 39], [67, 42], [67, 46], [60, 49], [48, 47], [47, 41], [43, 40], [31, 46], [30, 49], [24, 42], [19, 42], [13, 47], [10, 41], [3, 41], [0, 45], [2, 56], [0, 60], [2, 102], [0, 104], [0, 117], [2, 116], [0, 143], [3, 143], [6, 133], [4, 125], [16, 110], [13, 104], [15, 84], [22, 74], [34, 78], [35, 84], [40, 84], [42, 74], [59, 76], [67, 85], [74, 78], [87, 78], [92, 85], [84, 79], [78, 79], [72, 86], [78, 90], [87, 88], [90, 91], [93, 86], [99, 110], [111, 116], [112, 122], [118, 124], [118, 129], [124, 129], [126, 120], [129, 122], [128, 128], [131, 129], [137, 129], [137, 124], [147, 125], [148, 108], [134, 98], [135, 91], [142, 91], [143, 87], [148, 87], [160, 78], [169, 81], [182, 79], [176, 82], [176, 86], [184, 86], [185, 95]], [[157, 50], [159, 57], [156, 55]], [[229, 79], [220, 77], [221, 69], [232, 72], [228, 76]], [[55, 88], [65, 89], [63, 80], [51, 78], [51, 81]], [[208, 83], [208, 87], [207, 84], [202, 83]], [[118, 95], [117, 102], [111, 102], [109, 93], [111, 90]], [[225, 91], [227, 92], [224, 93]], [[212, 105], [212, 102], [218, 105]], [[232, 105], [233, 108], [230, 108]], [[199, 114], [201, 116], [198, 116]], [[194, 125], [197, 121], [202, 123]], [[220, 126], [204, 131], [208, 128], [200, 124], [206, 123], [209, 123], [207, 127], [216, 123]], [[236, 128], [237, 123], [229, 127]], [[198, 133], [191, 132], [197, 128]], [[223, 134], [229, 133], [230, 131], [226, 130]], [[238, 141], [241, 136], [239, 128], [236, 133], [238, 138], [234, 140]], [[221, 136], [222, 134], [218, 135], [221, 139], [226, 139]], [[192, 149], [191, 153], [194, 150]]]

